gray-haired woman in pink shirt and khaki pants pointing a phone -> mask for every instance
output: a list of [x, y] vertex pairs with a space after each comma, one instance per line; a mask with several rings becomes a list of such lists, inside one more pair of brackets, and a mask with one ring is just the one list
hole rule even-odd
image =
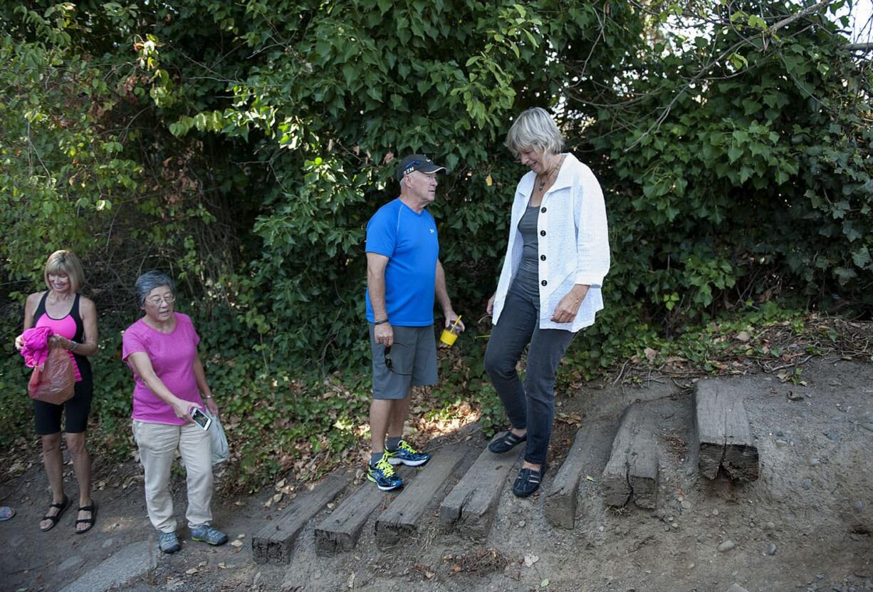
[[212, 448], [208, 432], [194, 423], [191, 411], [205, 407], [213, 416], [212, 398], [203, 363], [197, 355], [200, 337], [188, 315], [175, 313], [175, 285], [161, 272], [143, 273], [135, 285], [145, 312], [127, 327], [122, 360], [134, 371], [134, 439], [145, 470], [148, 519], [158, 530], [164, 553], [180, 549], [175, 533], [169, 472], [175, 451], [188, 474], [188, 527], [193, 540], [223, 545], [227, 535], [212, 521]]

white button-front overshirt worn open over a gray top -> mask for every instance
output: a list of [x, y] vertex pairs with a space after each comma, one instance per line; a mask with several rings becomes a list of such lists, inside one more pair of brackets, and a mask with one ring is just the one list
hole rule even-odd
[[[494, 324], [500, 319], [506, 293], [519, 269], [524, 241], [519, 220], [533, 193], [536, 174], [521, 177], [512, 202], [509, 244], [494, 298]], [[540, 264], [540, 328], [576, 332], [595, 322], [603, 308], [601, 285], [609, 271], [609, 237], [603, 191], [591, 169], [568, 154], [554, 184], [546, 191], [537, 217]], [[545, 232], [545, 234], [544, 234]], [[574, 284], [591, 286], [576, 318], [569, 323], [552, 320], [554, 309]]]

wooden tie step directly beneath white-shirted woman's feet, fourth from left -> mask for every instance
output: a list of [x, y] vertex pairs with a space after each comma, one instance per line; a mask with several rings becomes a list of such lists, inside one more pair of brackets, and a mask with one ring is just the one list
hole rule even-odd
[[[499, 437], [500, 435], [495, 437]], [[467, 536], [481, 538], [491, 529], [500, 492], [524, 446], [505, 454], [494, 454], [487, 446], [464, 477], [451, 490], [439, 509], [444, 527], [457, 527]]]

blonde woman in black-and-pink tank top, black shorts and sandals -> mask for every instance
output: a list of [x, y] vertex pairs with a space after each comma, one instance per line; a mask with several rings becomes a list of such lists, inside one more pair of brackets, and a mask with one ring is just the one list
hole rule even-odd
[[[80, 296], [85, 284], [82, 263], [72, 251], [54, 251], [45, 262], [45, 292], [32, 293], [24, 302], [24, 330], [33, 327], [52, 329], [52, 340], [70, 353], [76, 376], [71, 399], [55, 405], [33, 400], [33, 416], [43, 444], [43, 464], [52, 487], [52, 505], [39, 523], [42, 531], [52, 530], [70, 499], [64, 492], [64, 457], [60, 451], [61, 418], [65, 416], [66, 450], [79, 481], [79, 513], [76, 533], [85, 533], [94, 526], [97, 505], [91, 499], [91, 456], [86, 446], [88, 414], [91, 411], [93, 382], [91, 362], [97, 353], [97, 310], [94, 303]], [[23, 334], [15, 347], [24, 347]]]

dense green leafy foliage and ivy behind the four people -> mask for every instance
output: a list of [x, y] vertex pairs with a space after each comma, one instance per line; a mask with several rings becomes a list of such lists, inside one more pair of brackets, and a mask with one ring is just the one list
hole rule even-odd
[[[870, 70], [833, 16], [847, 3], [814, 4], [4, 5], [4, 351], [47, 254], [79, 251], [114, 428], [131, 286], [162, 268], [229, 410], [256, 417], [237, 428], [260, 446], [244, 465], [340, 450], [368, 400], [364, 225], [395, 195], [393, 159], [450, 169], [431, 211], [455, 308], [476, 320], [524, 172], [502, 139], [533, 105], [553, 109], [607, 196], [607, 309], [574, 342], [573, 372], [773, 299], [869, 314]], [[451, 384], [488, 410], [483, 344], [462, 340]], [[0, 388], [23, 383], [10, 355]], [[0, 410], [7, 441], [23, 405]]]

